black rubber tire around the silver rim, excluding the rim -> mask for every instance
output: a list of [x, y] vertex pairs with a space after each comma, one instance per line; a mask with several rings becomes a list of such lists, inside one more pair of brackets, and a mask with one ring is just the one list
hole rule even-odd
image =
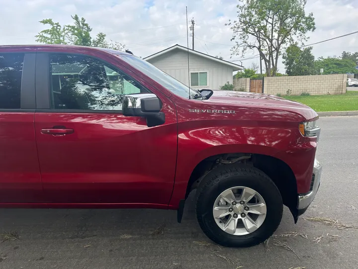
[[[226, 189], [249, 187], [265, 200], [267, 214], [264, 223], [247, 235], [231, 235], [223, 231], [213, 217], [216, 198]], [[202, 231], [215, 243], [225, 247], [251, 247], [268, 239], [282, 218], [282, 197], [273, 181], [261, 170], [242, 164], [226, 164], [210, 171], [196, 190], [196, 217]]]

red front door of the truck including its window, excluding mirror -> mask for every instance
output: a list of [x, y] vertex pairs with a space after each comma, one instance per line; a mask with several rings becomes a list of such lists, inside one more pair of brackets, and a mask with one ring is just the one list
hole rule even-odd
[[177, 158], [174, 105], [166, 106], [164, 125], [150, 128], [121, 107], [124, 94], [151, 89], [115, 64], [39, 52], [36, 65], [35, 132], [47, 201], [168, 204]]

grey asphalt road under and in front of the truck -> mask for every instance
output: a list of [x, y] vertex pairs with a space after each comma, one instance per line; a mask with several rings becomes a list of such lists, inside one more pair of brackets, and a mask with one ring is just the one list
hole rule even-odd
[[[285, 208], [276, 234], [301, 232], [302, 237], [279, 238], [291, 251], [269, 241], [247, 249], [196, 245], [209, 240], [196, 223], [192, 200], [181, 224], [175, 211], [1, 209], [0, 232], [17, 230], [19, 240], [0, 244], [0, 269], [352, 269], [358, 264], [358, 229], [337, 230], [303, 217], [337, 217], [358, 225], [358, 117], [321, 118], [317, 158], [323, 163], [322, 184], [298, 224]], [[357, 210], [353, 210], [351, 205]], [[164, 233], [149, 232], [166, 224]], [[329, 242], [327, 233], [340, 235]], [[121, 235], [131, 235], [121, 238]], [[310, 243], [314, 237], [323, 238]], [[237, 266], [229, 265], [229, 257]]]

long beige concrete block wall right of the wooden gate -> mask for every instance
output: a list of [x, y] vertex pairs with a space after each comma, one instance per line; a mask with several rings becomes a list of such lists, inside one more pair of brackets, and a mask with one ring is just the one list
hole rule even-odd
[[346, 83], [347, 74], [266, 77], [264, 93], [286, 95], [289, 89], [291, 95], [300, 95], [302, 92], [308, 92], [310, 95], [344, 94]]

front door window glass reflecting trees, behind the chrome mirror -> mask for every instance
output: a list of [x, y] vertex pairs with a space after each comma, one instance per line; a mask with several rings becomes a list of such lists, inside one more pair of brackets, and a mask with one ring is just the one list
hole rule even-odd
[[123, 95], [146, 92], [108, 64], [85, 55], [51, 54], [52, 109], [122, 110]]

